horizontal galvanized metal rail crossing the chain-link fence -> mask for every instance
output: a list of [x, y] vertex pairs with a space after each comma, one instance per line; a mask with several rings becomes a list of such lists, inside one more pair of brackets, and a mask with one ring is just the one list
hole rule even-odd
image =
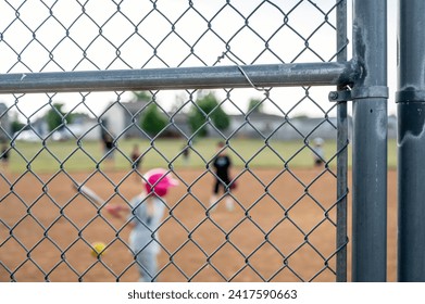
[[0, 93], [333, 86], [355, 77], [350, 62], [0, 75]]

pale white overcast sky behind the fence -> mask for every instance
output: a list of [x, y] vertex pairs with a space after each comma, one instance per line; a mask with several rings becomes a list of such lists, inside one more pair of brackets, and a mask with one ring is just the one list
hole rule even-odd
[[[0, 2], [0, 30], [3, 35], [0, 73], [234, 65], [235, 62], [320, 62], [332, 60], [336, 49], [332, 27], [335, 13], [329, 15], [328, 25], [323, 24], [324, 17], [320, 12], [329, 11], [335, 0], [316, 1], [320, 10], [308, 1], [297, 7], [299, 0], [272, 1], [278, 9], [266, 2], [257, 9], [263, 1], [255, 0], [233, 0], [232, 5], [225, 9], [222, 9], [225, 0], [193, 0], [190, 10], [187, 0], [159, 0], [153, 1], [157, 2], [157, 11], [152, 11], [153, 4], [148, 0], [116, 0], [122, 2], [120, 12], [114, 1], [107, 0], [45, 0], [46, 5], [36, 0], [10, 2], [15, 9], [20, 8], [18, 18], [11, 4]], [[86, 3], [86, 13], [82, 13], [83, 3]], [[351, 1], [348, 3], [351, 9]], [[396, 113], [396, 0], [388, 1], [390, 114]], [[288, 14], [288, 25], [277, 30], [282, 26], [283, 13]], [[248, 27], [245, 26], [245, 17], [249, 20]], [[209, 30], [208, 21], [211, 21], [212, 30]], [[313, 51], [305, 50], [301, 37], [310, 37], [317, 28], [309, 39]], [[264, 40], [270, 48], [265, 51]], [[226, 42], [233, 61], [225, 56], [218, 62], [220, 55], [226, 51]], [[152, 56], [152, 47], [157, 56]], [[195, 54], [191, 54], [191, 48]], [[313, 88], [311, 96], [320, 106], [327, 109], [327, 92], [333, 89]], [[217, 94], [221, 99], [226, 98], [226, 91], [220, 90]], [[158, 100], [170, 109], [176, 97], [185, 101], [187, 96], [185, 91], [161, 91]], [[297, 103], [303, 96], [302, 88], [282, 88], [273, 90], [272, 100], [279, 103], [290, 98], [291, 103]], [[238, 89], [230, 93], [230, 100], [242, 110], [251, 97], [263, 98], [263, 93], [254, 89]], [[26, 94], [20, 98], [17, 105], [26, 116], [39, 116], [48, 110], [47, 103], [52, 99], [53, 102], [65, 102], [66, 110], [76, 106], [76, 111], [87, 112], [87, 105], [99, 114], [109, 102], [118, 98], [126, 101], [132, 99], [132, 94]], [[10, 105], [14, 98], [0, 96], [0, 101]], [[238, 112], [232, 103], [225, 104], [229, 112]], [[275, 112], [275, 105], [270, 105], [268, 111]], [[295, 113], [317, 115], [317, 109], [305, 102]]]

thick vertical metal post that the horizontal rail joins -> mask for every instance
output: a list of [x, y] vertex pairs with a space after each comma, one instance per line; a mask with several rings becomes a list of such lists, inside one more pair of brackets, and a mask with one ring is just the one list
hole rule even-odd
[[352, 280], [387, 277], [387, 1], [353, 1]]

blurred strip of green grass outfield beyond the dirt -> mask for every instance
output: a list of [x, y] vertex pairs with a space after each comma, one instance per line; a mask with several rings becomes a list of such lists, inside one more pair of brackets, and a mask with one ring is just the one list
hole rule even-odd
[[[204, 168], [216, 152], [214, 139], [198, 140], [191, 145], [189, 161], [184, 162], [183, 148], [187, 143], [183, 139], [159, 139], [154, 143], [148, 140], [120, 140], [118, 150], [114, 153], [115, 169], [132, 167], [130, 152], [134, 144], [139, 145], [142, 153], [142, 168], [168, 167], [174, 168]], [[388, 144], [388, 165], [397, 165], [396, 141]], [[249, 167], [284, 167], [308, 168], [313, 166], [312, 151], [302, 141], [273, 141], [233, 139], [230, 140], [229, 155], [235, 166]], [[336, 166], [336, 142], [326, 141], [325, 157], [329, 165]], [[351, 147], [349, 147], [349, 155]], [[47, 141], [41, 142], [16, 141], [11, 151], [10, 170], [25, 172], [30, 168], [35, 173], [54, 173], [61, 169], [66, 172], [95, 170], [104, 168], [103, 151], [100, 141]], [[351, 166], [351, 157], [349, 156]]]

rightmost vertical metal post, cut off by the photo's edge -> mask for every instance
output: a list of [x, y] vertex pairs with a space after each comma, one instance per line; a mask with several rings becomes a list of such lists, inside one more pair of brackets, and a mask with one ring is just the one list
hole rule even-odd
[[425, 281], [425, 2], [399, 1], [398, 280]]

